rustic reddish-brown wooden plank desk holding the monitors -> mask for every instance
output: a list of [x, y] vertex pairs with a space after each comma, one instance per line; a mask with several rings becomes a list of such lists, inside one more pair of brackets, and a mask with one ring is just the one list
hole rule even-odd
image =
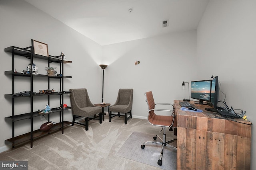
[[[251, 123], [214, 118], [208, 105], [192, 104], [203, 112], [180, 110], [177, 116], [177, 170], [250, 170]], [[245, 124], [243, 124], [245, 123]]]

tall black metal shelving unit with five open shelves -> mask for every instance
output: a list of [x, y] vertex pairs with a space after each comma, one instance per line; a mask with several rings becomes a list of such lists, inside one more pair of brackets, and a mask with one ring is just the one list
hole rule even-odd
[[[33, 40], [31, 40], [31, 43], [33, 44]], [[63, 120], [64, 111], [71, 109], [71, 107], [69, 107], [69, 106], [66, 108], [55, 107], [55, 108], [51, 108], [51, 112], [42, 114], [42, 113], [39, 113], [39, 111], [34, 111], [33, 98], [39, 97], [39, 96], [48, 96], [48, 105], [50, 106], [50, 96], [51, 95], [59, 95], [60, 96], [60, 106], [61, 105], [63, 106], [64, 94], [70, 93], [70, 92], [64, 91], [64, 78], [72, 78], [72, 76], [64, 76], [64, 64], [72, 63], [72, 61], [65, 61], [65, 60], [63, 60], [63, 57], [62, 57], [62, 59], [60, 59], [59, 58], [60, 56], [49, 55], [49, 57], [45, 57], [42, 55], [36, 55], [34, 53], [31, 53], [31, 51], [33, 51], [33, 45], [30, 47], [26, 47], [26, 48], [10, 46], [10, 47], [5, 48], [4, 51], [8, 52], [8, 53], [12, 53], [12, 70], [4, 72], [4, 74], [12, 76], [12, 94], [4, 95], [6, 98], [11, 98], [11, 100], [12, 100], [12, 116], [5, 117], [6, 121], [12, 122], [12, 138], [5, 140], [5, 143], [12, 145], [12, 147], [15, 147], [15, 146], [30, 142], [30, 147], [32, 148], [33, 141], [36, 139], [39, 139], [41, 137], [44, 137], [45, 135], [48, 135], [52, 132], [59, 131], [59, 130], [62, 130], [62, 133], [64, 133], [64, 127], [71, 124], [71, 122]], [[62, 76], [48, 76], [48, 75], [44, 75], [44, 74], [35, 75], [35, 74], [32, 74], [32, 72], [30, 72], [30, 74], [18, 73], [14, 70], [15, 57], [26, 57], [27, 59], [30, 59], [31, 66], [32, 66], [34, 58], [46, 60], [48, 62], [48, 67], [50, 67], [50, 63], [59, 63], [60, 64], [60, 74]], [[34, 84], [33, 78], [34, 77], [42, 77], [42, 78], [45, 77], [46, 79], [48, 79], [48, 89], [50, 89], [50, 79], [59, 79], [60, 80], [60, 92], [51, 92], [48, 94], [30, 93], [28, 96], [14, 96], [13, 95], [14, 94], [14, 82], [15, 82], [16, 76], [30, 78], [30, 92], [34, 92], [33, 91], [33, 84]], [[16, 98], [30, 98], [30, 112], [29, 113], [23, 113], [23, 114], [18, 114], [18, 115], [15, 114], [14, 105], [15, 105]], [[48, 121], [50, 121], [50, 114], [53, 114], [53, 113], [60, 114], [60, 122], [54, 124], [53, 127], [50, 129], [50, 131], [44, 132], [44, 131], [40, 131], [39, 129], [35, 130], [35, 131], [33, 130], [33, 118], [34, 117], [38, 117], [41, 115], [47, 115]], [[30, 119], [30, 132], [25, 133], [23, 135], [15, 136], [14, 135], [15, 122], [24, 120], [24, 119]]]

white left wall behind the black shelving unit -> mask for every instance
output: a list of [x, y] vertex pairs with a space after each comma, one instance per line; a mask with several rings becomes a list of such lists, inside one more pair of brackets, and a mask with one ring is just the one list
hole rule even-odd
[[[6, 150], [4, 140], [12, 137], [12, 123], [5, 121], [4, 117], [12, 115], [12, 100], [5, 98], [4, 94], [12, 94], [12, 77], [5, 75], [4, 71], [12, 70], [12, 56], [4, 52], [4, 48], [10, 46], [29, 47], [31, 39], [48, 44], [50, 55], [60, 55], [63, 52], [70, 64], [64, 64], [64, 76], [72, 76], [64, 80], [64, 90], [70, 88], [87, 88], [93, 103], [101, 102], [101, 75], [100, 64], [102, 47], [94, 41], [84, 37], [77, 31], [67, 27], [60, 21], [46, 15], [34, 6], [23, 0], [1, 0], [0, 1], [0, 151]], [[25, 70], [30, 61], [25, 57], [16, 57], [15, 68], [18, 72]], [[47, 62], [35, 60], [39, 74], [46, 74]], [[59, 67], [59, 65], [57, 66]], [[58, 70], [59, 68], [57, 68]], [[36, 78], [35, 78], [36, 79]], [[15, 92], [30, 90], [30, 79], [15, 77]], [[38, 83], [34, 85], [34, 91], [48, 88], [47, 79], [37, 78]], [[58, 90], [59, 85], [51, 80], [51, 88]], [[47, 98], [34, 98], [34, 111], [42, 109], [47, 104]], [[30, 111], [29, 100], [17, 103], [16, 113]], [[65, 95], [64, 103], [70, 106], [69, 95]], [[51, 106], [51, 105], [50, 105]], [[51, 106], [51, 107], [57, 107]], [[52, 121], [59, 121], [58, 114], [53, 115]], [[52, 117], [52, 116], [51, 116]], [[64, 114], [64, 119], [72, 121], [71, 110]], [[15, 135], [30, 131], [30, 121], [18, 121], [15, 123]], [[34, 119], [34, 129], [38, 129], [42, 123], [39, 117]]]

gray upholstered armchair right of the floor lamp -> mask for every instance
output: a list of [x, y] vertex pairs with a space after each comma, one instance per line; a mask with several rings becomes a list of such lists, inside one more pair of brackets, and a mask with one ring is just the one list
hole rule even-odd
[[[119, 89], [116, 103], [109, 107], [109, 121], [111, 118], [118, 115], [124, 116], [124, 124], [127, 124], [127, 120], [132, 118], [132, 98], [133, 98], [133, 89]], [[118, 112], [118, 114], [113, 114], [113, 112]], [[120, 115], [124, 113], [124, 115]], [[127, 117], [127, 113], [130, 113], [130, 116]]]

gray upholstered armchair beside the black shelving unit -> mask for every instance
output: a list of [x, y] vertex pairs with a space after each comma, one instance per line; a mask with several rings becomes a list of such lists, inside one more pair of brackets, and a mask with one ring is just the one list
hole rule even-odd
[[[91, 119], [98, 119], [102, 123], [102, 107], [95, 106], [90, 101], [86, 88], [70, 89], [70, 103], [72, 107], [73, 121], [79, 125], [85, 125], [85, 130], [88, 131], [88, 123]], [[97, 115], [99, 114], [99, 115]], [[75, 122], [78, 117], [85, 117], [85, 124]]]

